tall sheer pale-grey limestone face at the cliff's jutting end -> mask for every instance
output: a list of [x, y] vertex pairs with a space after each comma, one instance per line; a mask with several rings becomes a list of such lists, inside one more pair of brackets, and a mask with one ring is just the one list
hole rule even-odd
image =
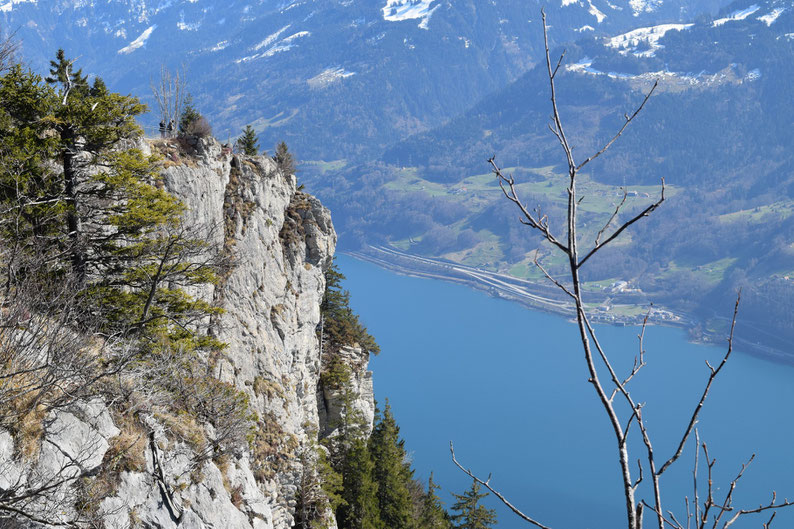
[[316, 328], [336, 233], [330, 212], [270, 158], [233, 156], [214, 140], [197, 151], [196, 167], [165, 169], [165, 185], [232, 253], [234, 267], [214, 293], [225, 313], [213, 325], [228, 344], [216, 375], [245, 388], [281, 438], [280, 464], [265, 469], [250, 500], [270, 507], [275, 528], [287, 528], [302, 471], [294, 456], [319, 430]]

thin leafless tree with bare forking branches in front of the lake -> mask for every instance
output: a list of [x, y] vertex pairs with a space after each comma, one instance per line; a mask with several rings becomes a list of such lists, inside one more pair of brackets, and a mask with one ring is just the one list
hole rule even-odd
[[[569, 142], [563, 127], [562, 118], [560, 116], [560, 111], [557, 104], [557, 92], [555, 86], [557, 74], [560, 72], [560, 68], [563, 64], [565, 52], [562, 53], [556, 62], [552, 62], [549, 53], [548, 31], [546, 26], [546, 15], [544, 12], [542, 12], [542, 20], [546, 51], [546, 68], [551, 91], [552, 115], [551, 122], [549, 123], [549, 130], [558, 140], [562, 148], [568, 169], [567, 225], [561, 230], [562, 235], [559, 235], [555, 230], [555, 227], [550, 225], [548, 217], [543, 215], [539, 209], [533, 210], [525, 205], [525, 203], [519, 197], [518, 191], [516, 189], [516, 182], [513, 176], [510, 174], [505, 174], [497, 165], [494, 157], [490, 158], [488, 162], [492, 167], [493, 173], [496, 175], [504, 196], [518, 208], [520, 212], [520, 222], [530, 229], [539, 232], [542, 238], [545, 239], [548, 244], [553, 246], [558, 252], [561, 252], [565, 257], [567, 269], [569, 271], [569, 276], [566, 280], [552, 277], [552, 275], [549, 274], [546, 269], [540, 265], [540, 263], [538, 263], [537, 258], [535, 259], [535, 264], [543, 272], [546, 278], [562, 291], [563, 295], [572, 302], [575, 308], [579, 338], [582, 343], [584, 360], [589, 373], [588, 382], [592, 385], [598, 401], [600, 402], [614, 433], [615, 448], [617, 449], [620, 462], [622, 489], [625, 498], [627, 518], [626, 526], [628, 529], [640, 529], [643, 526], [643, 510], [648, 508], [652, 511], [654, 526], [656, 526], [658, 529], [665, 529], [665, 527], [672, 527], [675, 529], [684, 529], [684, 527], [686, 527], [689, 529], [692, 527], [693, 523], [694, 527], [697, 529], [704, 529], [707, 526], [714, 529], [717, 529], [718, 527], [726, 529], [741, 516], [764, 511], [771, 511], [774, 513], [777, 509], [792, 505], [792, 502], [788, 501], [787, 499], [779, 501], [776, 495], [773, 493], [770, 502], [765, 505], [760, 505], [758, 508], [738, 509], [734, 507], [733, 492], [737, 483], [742, 478], [749, 462], [745, 465], [742, 465], [739, 474], [730, 482], [728, 492], [725, 493], [725, 496], [721, 501], [718, 500], [715, 497], [716, 489], [712, 480], [712, 468], [715, 464], [715, 461], [713, 459], [709, 459], [707, 445], [705, 443], [701, 443], [700, 440], [697, 439], [695, 451], [697, 453], [702, 449], [707, 462], [708, 488], [705, 493], [705, 498], [702, 498], [700, 496], [701, 493], [698, 491], [698, 468], [696, 460], [694, 469], [695, 494], [691, 504], [689, 499], [686, 500], [686, 525], [683, 525], [681, 522], [679, 522], [671, 510], [665, 508], [665, 504], [662, 501], [662, 487], [660, 484], [660, 478], [665, 471], [667, 471], [671, 465], [673, 465], [681, 457], [684, 447], [692, 438], [693, 433], [697, 438], [695, 425], [698, 422], [700, 412], [703, 409], [703, 405], [706, 402], [706, 398], [708, 397], [713, 382], [725, 367], [725, 364], [728, 362], [731, 356], [736, 315], [739, 308], [739, 299], [737, 298], [736, 306], [734, 307], [733, 319], [728, 337], [727, 352], [723, 356], [722, 361], [716, 367], [706, 362], [709, 370], [708, 379], [705, 383], [705, 387], [699, 400], [694, 406], [692, 414], [687, 417], [686, 424], [683, 428], [683, 433], [681, 434], [677, 444], [677, 448], [669, 456], [660, 459], [657, 453], [654, 451], [654, 444], [650, 429], [645, 421], [645, 418], [643, 417], [644, 404], [635, 400], [629, 387], [635, 376], [646, 365], [644, 354], [645, 351], [643, 349], [643, 337], [645, 334], [645, 326], [647, 324], [648, 318], [646, 316], [643, 322], [642, 332], [639, 336], [640, 350], [638, 356], [635, 358], [634, 365], [629, 370], [627, 375], [621, 376], [618, 374], [616, 368], [613, 367], [607, 352], [599, 342], [596, 332], [590, 321], [590, 317], [588, 316], [587, 308], [584, 302], [584, 296], [582, 293], [580, 271], [585, 263], [590, 260], [590, 258], [592, 258], [604, 247], [615, 241], [627, 228], [629, 228], [635, 222], [647, 217], [662, 205], [665, 200], [664, 180], [661, 182], [659, 198], [645, 207], [642, 211], [629, 215], [626, 220], [622, 220], [623, 218], [621, 217], [622, 209], [626, 205], [626, 193], [624, 191], [623, 200], [617, 204], [614, 212], [604, 223], [603, 227], [597, 232], [595, 240], [590, 246], [584, 246], [584, 244], [580, 246], [582, 243], [580, 240], [581, 234], [577, 231], [577, 208], [579, 207], [583, 198], [583, 196], [581, 196], [577, 190], [577, 177], [584, 167], [604, 154], [618, 140], [618, 138], [620, 138], [626, 128], [642, 111], [645, 104], [648, 102], [649, 98], [656, 89], [657, 83], [653, 84], [643, 100], [631, 114], [624, 114], [622, 126], [608, 141], [606, 141], [603, 147], [601, 147], [594, 154], [584, 158], [582, 161], [577, 162], [576, 157], [574, 156], [574, 149], [571, 146], [571, 143]], [[628, 443], [629, 435], [632, 431], [637, 432], [635, 435], [640, 436], [644, 445], [644, 453], [638, 459], [636, 459], [636, 475], [633, 474], [634, 459], [629, 453], [630, 447]], [[452, 444], [450, 444], [450, 450], [452, 452], [452, 459], [455, 464], [470, 477], [474, 478], [477, 482], [494, 493], [502, 502], [504, 502], [508, 508], [510, 508], [526, 522], [536, 527], [548, 529], [547, 525], [519, 510], [507, 498], [495, 490], [490, 484], [490, 478], [485, 480], [480, 479], [476, 477], [471, 470], [468, 470], [462, 464], [460, 464], [455, 457]], [[644, 498], [638, 498], [638, 487], [643, 481], [646, 480], [650, 480], [652, 491], [652, 498], [650, 498], [648, 501], [646, 501]], [[772, 514], [772, 517], [765, 524], [765, 527], [768, 527], [772, 523], [773, 519], [774, 514]]]

